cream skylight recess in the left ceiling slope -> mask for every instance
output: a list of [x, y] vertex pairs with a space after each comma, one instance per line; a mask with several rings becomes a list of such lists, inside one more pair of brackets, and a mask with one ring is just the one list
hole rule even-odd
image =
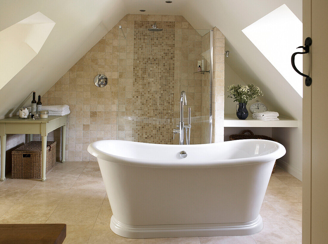
[[0, 31], [0, 89], [38, 54], [54, 25], [37, 12]]

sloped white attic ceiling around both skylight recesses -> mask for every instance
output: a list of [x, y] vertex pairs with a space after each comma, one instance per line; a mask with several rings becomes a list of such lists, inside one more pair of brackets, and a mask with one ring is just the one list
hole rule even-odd
[[[284, 103], [300, 103], [297, 92], [242, 33], [242, 29], [286, 4], [302, 18], [301, 0], [38, 0], [0, 2], [0, 31], [40, 11], [56, 25], [40, 52], [0, 90], [0, 116], [8, 115], [36, 90], [44, 94], [124, 15], [183, 15], [196, 29], [216, 26], [226, 36], [226, 49], [233, 51], [228, 64], [246, 83], [260, 86], [265, 99], [283, 109]], [[277, 37], [277, 51], [283, 38]], [[301, 45], [301, 43], [300, 43]], [[0, 61], [3, 62], [3, 61]], [[298, 97], [297, 97], [297, 96]], [[291, 109], [283, 109], [294, 116]]]

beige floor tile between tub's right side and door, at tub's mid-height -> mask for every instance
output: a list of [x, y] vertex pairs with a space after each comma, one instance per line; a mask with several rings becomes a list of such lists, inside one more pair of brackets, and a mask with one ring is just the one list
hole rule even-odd
[[302, 197], [289, 187], [271, 187], [265, 193], [268, 202], [301, 202]]

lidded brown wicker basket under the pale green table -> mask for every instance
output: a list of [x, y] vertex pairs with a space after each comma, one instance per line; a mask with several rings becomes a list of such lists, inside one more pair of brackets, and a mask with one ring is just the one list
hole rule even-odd
[[[41, 178], [41, 141], [30, 141], [11, 152], [13, 179]], [[56, 142], [47, 141], [46, 173], [56, 164]]]

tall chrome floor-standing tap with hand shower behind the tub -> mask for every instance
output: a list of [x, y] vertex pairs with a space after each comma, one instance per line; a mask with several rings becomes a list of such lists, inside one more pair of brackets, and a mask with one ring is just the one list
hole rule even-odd
[[[188, 108], [188, 125], [184, 125], [183, 122], [183, 106], [187, 105], [187, 98], [186, 98], [186, 92], [182, 91], [180, 96], [180, 122], [176, 127], [179, 129], [173, 129], [173, 140], [174, 135], [179, 134], [179, 144], [184, 144], [184, 130], [186, 130], [186, 144], [190, 144], [190, 129], [191, 129], [191, 110]], [[187, 132], [189, 132], [189, 136], [187, 136]]]

